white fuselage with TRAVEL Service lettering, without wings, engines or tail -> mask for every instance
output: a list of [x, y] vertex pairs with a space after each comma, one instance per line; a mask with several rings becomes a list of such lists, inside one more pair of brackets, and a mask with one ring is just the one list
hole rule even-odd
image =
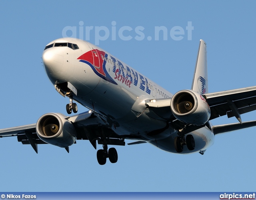
[[[166, 121], [150, 113], [144, 102], [171, 98], [171, 93], [89, 42], [60, 38], [48, 45], [61, 42], [77, 44], [79, 49], [57, 46], [44, 50], [44, 67], [52, 84], [70, 82], [77, 89], [74, 100], [102, 115], [116, 134], [134, 136], [134, 139], [140, 138], [176, 153], [174, 138], [177, 132], [169, 127], [159, 134], [150, 134], [166, 127]], [[184, 146], [182, 154], [205, 150], [214, 142], [214, 134], [208, 128], [191, 134], [196, 148], [189, 151]]]

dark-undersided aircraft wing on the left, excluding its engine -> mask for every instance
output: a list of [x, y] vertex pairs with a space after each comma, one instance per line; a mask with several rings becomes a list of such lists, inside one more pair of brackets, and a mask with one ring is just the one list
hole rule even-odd
[[[89, 140], [95, 149], [97, 141], [98, 144], [103, 144], [103, 141], [99, 140], [102, 134], [108, 138], [106, 141], [107, 144], [121, 146], [125, 145], [124, 138], [130, 137], [118, 136], [110, 126], [107, 125], [107, 119], [104, 119], [104, 116], [100, 116], [95, 112], [84, 112], [67, 117], [65, 120], [70, 121], [74, 125], [77, 134], [76, 140]], [[18, 142], [30, 144], [36, 153], [38, 153], [37, 144], [48, 144], [42, 141], [36, 134], [36, 124], [0, 129], [0, 138], [9, 136], [17, 136]], [[68, 149], [66, 150], [69, 152]]]

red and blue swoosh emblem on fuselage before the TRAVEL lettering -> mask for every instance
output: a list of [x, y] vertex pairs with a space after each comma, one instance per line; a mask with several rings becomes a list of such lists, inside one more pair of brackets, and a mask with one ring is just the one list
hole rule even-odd
[[97, 74], [100, 78], [117, 85], [117, 83], [113, 80], [113, 78], [108, 74], [106, 70], [106, 61], [108, 59], [108, 54], [104, 51], [100, 51], [98, 49], [90, 50], [79, 58], [80, 62], [84, 62], [88, 64], [95, 74]]

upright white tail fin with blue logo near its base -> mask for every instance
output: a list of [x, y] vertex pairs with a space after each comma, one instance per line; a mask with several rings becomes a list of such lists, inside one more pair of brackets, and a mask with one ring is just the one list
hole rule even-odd
[[191, 90], [199, 94], [208, 93], [206, 43], [200, 40]]

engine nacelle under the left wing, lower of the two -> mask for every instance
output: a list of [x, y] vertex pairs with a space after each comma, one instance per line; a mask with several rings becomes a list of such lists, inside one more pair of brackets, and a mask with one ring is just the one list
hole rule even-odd
[[76, 130], [73, 124], [60, 113], [48, 113], [36, 123], [38, 137], [48, 144], [66, 148], [76, 141]]

